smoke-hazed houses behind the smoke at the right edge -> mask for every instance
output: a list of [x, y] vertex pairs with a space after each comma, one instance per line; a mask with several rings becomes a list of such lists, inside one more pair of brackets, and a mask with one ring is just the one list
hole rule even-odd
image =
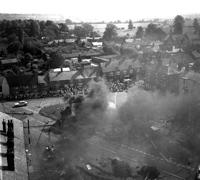
[[160, 90], [161, 92], [192, 93], [200, 91], [200, 74], [192, 70], [185, 71], [185, 67], [178, 70], [178, 66], [148, 66], [145, 69], [145, 88]]

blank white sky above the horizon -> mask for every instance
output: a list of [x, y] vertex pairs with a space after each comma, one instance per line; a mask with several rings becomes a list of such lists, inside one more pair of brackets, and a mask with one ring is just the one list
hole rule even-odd
[[0, 13], [60, 14], [74, 21], [173, 18], [200, 13], [200, 0], [1, 0]]

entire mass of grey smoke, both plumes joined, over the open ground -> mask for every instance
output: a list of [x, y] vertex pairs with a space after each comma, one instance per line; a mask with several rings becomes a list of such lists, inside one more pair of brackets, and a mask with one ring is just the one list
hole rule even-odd
[[[69, 117], [66, 118], [56, 143], [56, 158], [48, 163], [58, 169], [55, 177], [79, 179], [76, 163], [88, 153], [87, 140], [100, 130], [108, 135], [108, 141], [140, 145], [147, 153], [162, 154], [182, 163], [191, 155], [198, 155], [200, 111], [196, 95], [163, 95], [132, 87], [126, 101], [116, 109], [109, 109], [109, 96], [103, 80], [90, 82], [87, 97], [75, 106], [76, 121], [68, 124]], [[148, 159], [144, 161], [149, 163]], [[41, 166], [46, 167], [44, 162]], [[67, 172], [72, 172], [70, 177]]]

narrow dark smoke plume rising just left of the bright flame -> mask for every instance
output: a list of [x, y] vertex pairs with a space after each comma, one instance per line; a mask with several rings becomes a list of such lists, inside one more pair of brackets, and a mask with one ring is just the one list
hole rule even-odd
[[[36, 179], [80, 179], [76, 165], [87, 152], [87, 139], [94, 135], [97, 128], [106, 121], [108, 90], [103, 81], [92, 81], [89, 84], [89, 93], [85, 98], [74, 97], [71, 99], [73, 116], [62, 117], [64, 125], [60, 139], [55, 144], [55, 153], [52, 160], [44, 161], [41, 156], [39, 169], [41, 176]], [[69, 114], [69, 106], [65, 109], [63, 116]], [[69, 123], [70, 122], [70, 123]], [[49, 172], [49, 170], [52, 170]]]

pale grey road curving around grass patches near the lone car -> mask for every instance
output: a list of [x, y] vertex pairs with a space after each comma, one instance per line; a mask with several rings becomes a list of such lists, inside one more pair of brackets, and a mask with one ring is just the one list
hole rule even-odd
[[[12, 108], [12, 106], [15, 103], [14, 101], [1, 103], [0, 110], [2, 112], [9, 113], [9, 115], [17, 119], [20, 119], [24, 122], [25, 144], [26, 144], [26, 149], [29, 151], [29, 153], [27, 153], [29, 159], [28, 160], [29, 170], [30, 173], [32, 173], [35, 172], [36, 170], [35, 167], [37, 167], [38, 157], [39, 157], [38, 153], [42, 153], [42, 151], [45, 149], [45, 146], [53, 144], [53, 142], [55, 142], [58, 138], [55, 135], [42, 132], [42, 129], [44, 128], [45, 124], [52, 124], [55, 121], [53, 121], [50, 118], [41, 116], [39, 114], [39, 111], [44, 106], [62, 103], [63, 99], [44, 98], [44, 99], [33, 99], [26, 101], [28, 102], [28, 105], [20, 108]], [[28, 133], [28, 128], [27, 128], [28, 120], [30, 124], [30, 134]]]

